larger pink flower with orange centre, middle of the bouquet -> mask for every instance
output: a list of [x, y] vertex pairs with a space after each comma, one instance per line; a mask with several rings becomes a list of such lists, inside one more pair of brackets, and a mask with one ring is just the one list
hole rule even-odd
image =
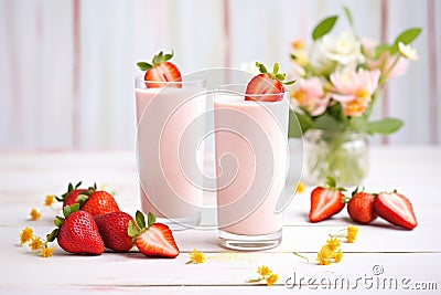
[[331, 97], [340, 102], [346, 116], [359, 116], [368, 106], [378, 87], [379, 70], [335, 72], [330, 76], [333, 84]]

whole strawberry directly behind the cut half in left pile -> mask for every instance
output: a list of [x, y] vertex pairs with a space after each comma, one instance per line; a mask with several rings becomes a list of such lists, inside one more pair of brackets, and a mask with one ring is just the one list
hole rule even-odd
[[129, 221], [133, 221], [133, 219], [122, 211], [95, 217], [106, 247], [117, 252], [127, 252], [133, 246], [128, 234]]

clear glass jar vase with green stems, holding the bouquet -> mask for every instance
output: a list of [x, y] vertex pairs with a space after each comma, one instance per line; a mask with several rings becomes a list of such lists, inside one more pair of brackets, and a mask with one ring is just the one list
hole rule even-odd
[[309, 129], [303, 150], [303, 181], [309, 186], [322, 186], [333, 177], [337, 186], [355, 187], [367, 175], [369, 143], [364, 133]]

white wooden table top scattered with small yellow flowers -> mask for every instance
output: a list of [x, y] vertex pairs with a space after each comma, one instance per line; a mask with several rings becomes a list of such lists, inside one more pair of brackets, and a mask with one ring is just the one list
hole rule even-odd
[[[69, 181], [108, 183], [117, 191], [121, 210], [133, 214], [139, 209], [135, 155], [132, 151], [2, 151], [0, 294], [294, 294], [299, 289], [340, 294], [346, 291], [346, 285], [344, 289], [340, 285], [342, 281], [358, 293], [378, 292], [377, 287], [381, 292], [408, 288], [408, 294], [426, 287], [437, 288], [427, 293], [441, 293], [441, 147], [373, 147], [370, 159], [366, 187], [374, 191], [398, 189], [408, 196], [419, 225], [405, 231], [377, 219], [372, 225], [359, 226], [356, 243], [342, 243], [341, 263], [320, 266], [315, 262], [316, 252], [327, 234], [352, 221], [344, 209], [331, 220], [309, 223], [311, 189], [295, 196], [290, 203], [284, 215], [283, 242], [270, 251], [230, 252], [217, 244], [216, 230], [186, 230], [174, 232], [181, 249], [174, 260], [149, 259], [135, 250], [126, 254], [72, 255], [60, 247], [54, 256], [42, 259], [28, 246], [19, 246], [19, 233], [29, 225], [44, 236], [53, 228], [56, 212], [44, 209], [44, 196], [63, 192]], [[29, 219], [34, 207], [44, 209], [39, 221]], [[209, 220], [209, 215], [205, 218]], [[208, 259], [203, 264], [185, 265], [194, 247]], [[295, 256], [293, 251], [308, 256], [310, 262]], [[246, 283], [262, 264], [279, 275], [275, 286]], [[377, 271], [383, 272], [378, 275]], [[324, 285], [327, 280], [340, 283]], [[378, 285], [381, 282], [392, 285], [385, 291]]]

